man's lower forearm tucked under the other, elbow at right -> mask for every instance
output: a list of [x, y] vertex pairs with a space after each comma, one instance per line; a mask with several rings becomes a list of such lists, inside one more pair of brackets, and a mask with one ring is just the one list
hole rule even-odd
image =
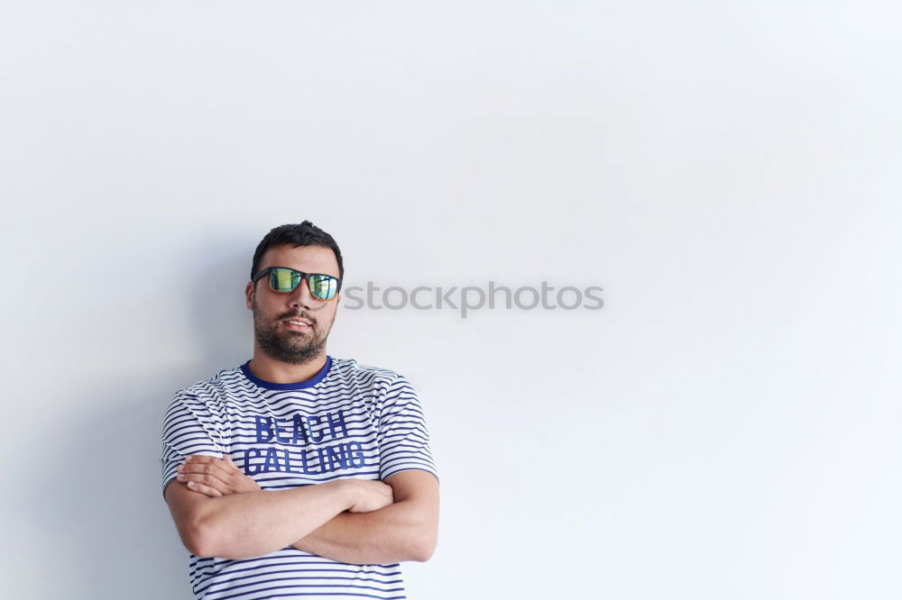
[[370, 513], [342, 513], [291, 544], [355, 565], [421, 560], [425, 523], [409, 501]]

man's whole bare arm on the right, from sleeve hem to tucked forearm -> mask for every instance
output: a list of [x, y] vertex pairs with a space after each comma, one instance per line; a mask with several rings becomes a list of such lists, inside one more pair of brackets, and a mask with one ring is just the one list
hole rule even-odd
[[410, 469], [385, 479], [394, 504], [370, 513], [341, 513], [291, 546], [358, 565], [431, 558], [438, 536], [438, 480]]

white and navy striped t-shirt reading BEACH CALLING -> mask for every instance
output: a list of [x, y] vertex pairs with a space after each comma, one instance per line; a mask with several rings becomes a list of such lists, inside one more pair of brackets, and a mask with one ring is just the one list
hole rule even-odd
[[[164, 493], [188, 454], [228, 454], [264, 490], [384, 480], [407, 469], [438, 477], [423, 409], [405, 377], [327, 356], [315, 377], [276, 384], [247, 364], [173, 396], [162, 427]], [[204, 600], [406, 597], [399, 563], [354, 565], [292, 546], [241, 560], [191, 554], [189, 578]]]

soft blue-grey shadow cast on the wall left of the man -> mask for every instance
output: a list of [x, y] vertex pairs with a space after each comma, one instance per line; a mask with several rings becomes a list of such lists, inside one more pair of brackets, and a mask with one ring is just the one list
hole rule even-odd
[[187, 314], [197, 360], [166, 372], [147, 365], [139, 380], [109, 374], [102, 388], [72, 401], [115, 410], [67, 423], [60, 447], [41, 452], [59, 462], [36, 467], [49, 477], [35, 476], [30, 508], [46, 541], [77, 549], [65, 552], [81, 563], [71, 566], [80, 577], [66, 583], [68, 597], [192, 597], [189, 552], [162, 496], [162, 418], [176, 391], [240, 365], [253, 348], [252, 314], [244, 305], [253, 247], [250, 254], [237, 242], [201, 250], [183, 278], [189, 293], [161, 295], [189, 298], [189, 305], [170, 306], [168, 314]]

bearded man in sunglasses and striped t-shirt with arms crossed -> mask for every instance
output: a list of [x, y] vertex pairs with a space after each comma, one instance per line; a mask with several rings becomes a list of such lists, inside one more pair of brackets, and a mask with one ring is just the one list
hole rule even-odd
[[403, 598], [399, 563], [435, 550], [438, 476], [416, 392], [326, 353], [344, 275], [328, 233], [273, 229], [245, 289], [253, 358], [170, 401], [163, 497], [195, 598]]

